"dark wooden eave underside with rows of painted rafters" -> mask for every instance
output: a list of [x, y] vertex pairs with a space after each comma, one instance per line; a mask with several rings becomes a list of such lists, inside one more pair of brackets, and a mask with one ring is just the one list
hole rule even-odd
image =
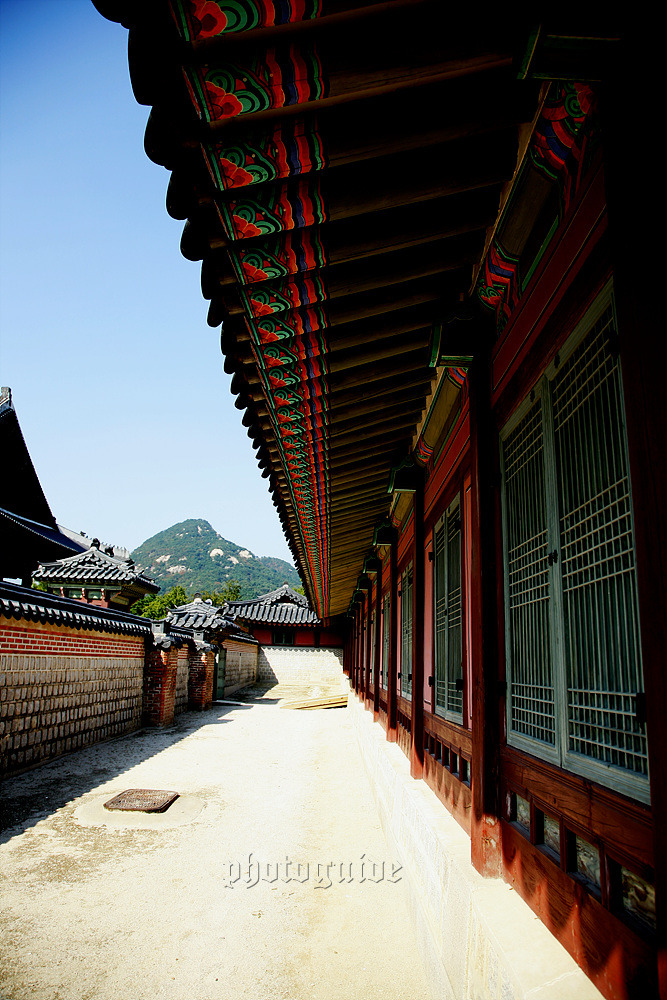
[[[390, 470], [444, 377], [432, 328], [469, 292], [535, 114], [538, 86], [516, 80], [528, 28], [454, 24], [439, 0], [322, 0], [312, 20], [188, 40], [177, 0], [177, 16], [167, 0], [96, 2], [130, 27], [135, 94], [152, 105], [146, 148], [172, 171], [168, 209], [185, 220], [183, 253], [202, 262], [209, 323], [222, 324], [236, 405], [311, 605], [345, 613], [390, 511]], [[246, 89], [220, 97], [211, 81], [239, 69]], [[255, 77], [274, 90], [253, 105]], [[234, 100], [240, 113], [218, 115]], [[284, 277], [257, 267], [272, 260]], [[261, 314], [259, 302], [280, 308]]]

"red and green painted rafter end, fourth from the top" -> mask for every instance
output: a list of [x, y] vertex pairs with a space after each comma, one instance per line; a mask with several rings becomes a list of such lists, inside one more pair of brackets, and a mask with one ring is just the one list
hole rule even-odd
[[317, 177], [272, 184], [261, 200], [245, 197], [224, 201], [217, 205], [217, 211], [227, 238], [234, 241], [305, 229], [327, 218]]

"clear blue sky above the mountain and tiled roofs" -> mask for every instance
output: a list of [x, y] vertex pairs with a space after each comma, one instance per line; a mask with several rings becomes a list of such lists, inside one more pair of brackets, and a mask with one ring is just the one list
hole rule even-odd
[[61, 524], [134, 548], [202, 517], [291, 562], [148, 110], [89, 0], [0, 0], [0, 380]]

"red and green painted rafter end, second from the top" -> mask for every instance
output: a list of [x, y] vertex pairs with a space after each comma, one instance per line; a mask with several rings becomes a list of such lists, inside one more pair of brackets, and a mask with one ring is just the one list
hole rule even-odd
[[247, 66], [191, 65], [184, 73], [197, 114], [206, 122], [305, 104], [325, 96], [322, 66], [312, 45], [268, 49]]

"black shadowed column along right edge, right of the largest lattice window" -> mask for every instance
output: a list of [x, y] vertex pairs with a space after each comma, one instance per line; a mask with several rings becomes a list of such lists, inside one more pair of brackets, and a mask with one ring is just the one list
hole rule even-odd
[[[637, 29], [630, 28], [629, 31]], [[659, 995], [667, 1000], [667, 342], [660, 294], [647, 285], [649, 248], [656, 241], [655, 205], [662, 200], [658, 164], [628, 143], [651, 135], [661, 90], [644, 39], [626, 37], [623, 79], [608, 87], [603, 104], [605, 185], [614, 271], [619, 350], [634, 508], [637, 590], [641, 625], [646, 732], [656, 899]], [[639, 108], [629, 81], [645, 82]]]

